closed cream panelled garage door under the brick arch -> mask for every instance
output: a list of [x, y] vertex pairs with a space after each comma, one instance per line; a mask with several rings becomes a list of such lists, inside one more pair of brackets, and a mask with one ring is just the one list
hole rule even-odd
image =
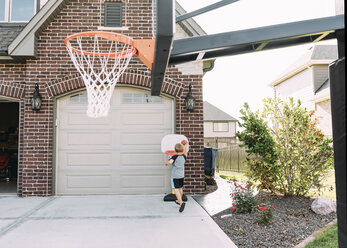
[[86, 116], [86, 93], [57, 105], [56, 193], [157, 194], [170, 189], [162, 137], [173, 132], [173, 101], [117, 87], [108, 117]]

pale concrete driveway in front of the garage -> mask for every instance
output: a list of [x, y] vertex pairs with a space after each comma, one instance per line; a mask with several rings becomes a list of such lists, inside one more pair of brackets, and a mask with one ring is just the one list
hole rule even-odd
[[0, 247], [236, 247], [188, 197], [178, 205], [151, 196], [0, 197]]

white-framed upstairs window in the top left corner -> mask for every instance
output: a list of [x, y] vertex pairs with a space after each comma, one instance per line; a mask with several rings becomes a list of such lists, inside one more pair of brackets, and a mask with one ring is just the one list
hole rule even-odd
[[28, 22], [38, 3], [39, 0], [0, 0], [0, 22]]

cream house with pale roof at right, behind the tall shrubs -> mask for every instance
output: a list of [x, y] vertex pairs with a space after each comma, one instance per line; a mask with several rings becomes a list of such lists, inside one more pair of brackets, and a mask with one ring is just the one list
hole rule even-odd
[[336, 45], [312, 46], [298, 61], [271, 83], [275, 97], [300, 99], [315, 110], [318, 128], [332, 137], [329, 64], [337, 59]]

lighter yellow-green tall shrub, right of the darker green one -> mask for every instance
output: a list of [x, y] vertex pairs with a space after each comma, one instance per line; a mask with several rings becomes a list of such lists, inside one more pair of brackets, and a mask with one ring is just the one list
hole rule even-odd
[[322, 180], [333, 168], [332, 139], [317, 128], [318, 118], [301, 102], [289, 98], [264, 100], [263, 116], [277, 150], [279, 174], [276, 188], [284, 195], [307, 195], [311, 188], [320, 189]]

